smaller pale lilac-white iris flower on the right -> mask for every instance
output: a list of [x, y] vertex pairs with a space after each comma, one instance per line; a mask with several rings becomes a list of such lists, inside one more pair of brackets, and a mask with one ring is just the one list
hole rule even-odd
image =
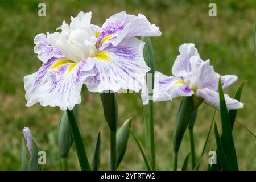
[[[189, 97], [195, 95], [200, 100], [210, 105], [220, 107], [218, 96], [218, 80], [220, 74], [216, 73], [210, 61], [203, 61], [200, 58], [195, 44], [183, 44], [179, 47], [180, 55], [177, 56], [172, 66], [174, 76], [166, 76], [156, 72], [158, 79], [155, 79], [153, 100], [167, 101], [175, 97]], [[221, 76], [222, 88], [225, 90], [237, 81], [235, 75]], [[242, 109], [243, 103], [230, 98], [224, 94], [228, 109]], [[148, 94], [142, 93], [143, 104], [148, 104]]]

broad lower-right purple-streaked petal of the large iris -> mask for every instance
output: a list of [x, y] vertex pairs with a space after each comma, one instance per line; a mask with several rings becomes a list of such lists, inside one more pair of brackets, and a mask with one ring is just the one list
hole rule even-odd
[[144, 42], [125, 38], [118, 46], [109, 46], [94, 57], [96, 76], [85, 81], [90, 92], [129, 89], [139, 92], [150, 70], [143, 58]]

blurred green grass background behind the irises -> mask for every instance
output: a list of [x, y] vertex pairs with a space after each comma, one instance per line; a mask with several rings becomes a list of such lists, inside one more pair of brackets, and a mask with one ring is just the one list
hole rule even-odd
[[[38, 3], [46, 3], [46, 17], [39, 17]], [[245, 108], [238, 111], [237, 120], [255, 133], [255, 57], [254, 25], [256, 1], [215, 1], [217, 17], [208, 16], [208, 5], [212, 1], [0, 1], [0, 170], [20, 169], [21, 131], [30, 127], [40, 150], [46, 151], [45, 170], [61, 169], [57, 146], [57, 131], [61, 111], [59, 108], [42, 107], [36, 104], [25, 106], [23, 77], [34, 73], [42, 64], [33, 52], [33, 39], [40, 32], [53, 32], [69, 16], [79, 11], [92, 11], [92, 23], [99, 26], [105, 19], [119, 11], [146, 15], [162, 31], [162, 36], [152, 38], [155, 49], [156, 70], [171, 74], [171, 67], [178, 48], [183, 43], [195, 43], [201, 57], [214, 65], [222, 75], [239, 77], [236, 84], [226, 92], [230, 96], [243, 80], [248, 80], [242, 94]], [[89, 93], [86, 86], [81, 92], [79, 125], [86, 152], [90, 160], [98, 130], [101, 131], [101, 167], [106, 169], [109, 155], [109, 130], [105, 122], [100, 95]], [[181, 98], [173, 102], [158, 102], [154, 105], [155, 143], [157, 169], [172, 169], [172, 130]], [[139, 94], [118, 94], [119, 126], [133, 117], [132, 128], [139, 140], [144, 142], [144, 130]], [[197, 160], [209, 130], [214, 110], [203, 104], [195, 125]], [[220, 113], [216, 121], [220, 125]], [[242, 170], [256, 169], [255, 138], [240, 125], [233, 130], [238, 163]], [[206, 169], [208, 151], [214, 150], [213, 132], [210, 134], [200, 169]], [[188, 133], [185, 133], [179, 154], [179, 168], [190, 150]], [[79, 170], [73, 146], [69, 168]], [[119, 169], [146, 169], [141, 154], [130, 137], [125, 158]]]

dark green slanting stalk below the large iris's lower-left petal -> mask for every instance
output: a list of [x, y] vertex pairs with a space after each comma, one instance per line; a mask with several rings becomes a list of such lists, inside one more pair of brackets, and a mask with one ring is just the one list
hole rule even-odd
[[77, 156], [79, 158], [79, 163], [82, 171], [90, 171], [90, 164], [86, 156], [84, 149], [84, 144], [82, 143], [82, 138], [79, 132], [79, 127], [72, 110], [67, 110], [69, 128], [71, 131], [72, 138], [76, 146]]

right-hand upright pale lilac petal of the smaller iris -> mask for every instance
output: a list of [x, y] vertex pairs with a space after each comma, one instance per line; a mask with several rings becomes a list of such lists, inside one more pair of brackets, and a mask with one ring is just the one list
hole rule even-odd
[[[193, 56], [192, 59], [199, 59], [198, 56]], [[209, 88], [212, 90], [218, 89], [218, 74], [210, 66], [210, 60], [203, 63], [195, 63], [191, 67], [191, 80], [189, 88], [192, 90]]]

